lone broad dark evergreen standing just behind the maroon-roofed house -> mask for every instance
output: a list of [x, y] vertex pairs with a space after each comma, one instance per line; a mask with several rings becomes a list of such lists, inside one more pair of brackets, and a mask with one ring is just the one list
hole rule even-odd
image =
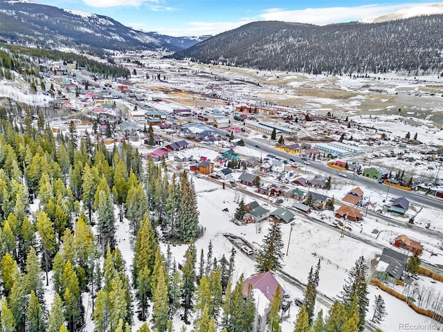
[[284, 243], [282, 230], [279, 223], [271, 223], [268, 234], [263, 239], [263, 244], [256, 260], [255, 268], [259, 272], [278, 270], [282, 268]]

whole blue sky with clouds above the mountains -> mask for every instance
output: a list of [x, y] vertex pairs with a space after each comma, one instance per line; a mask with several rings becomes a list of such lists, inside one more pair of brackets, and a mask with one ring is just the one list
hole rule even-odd
[[93, 12], [139, 30], [172, 36], [216, 35], [251, 21], [332, 24], [435, 2], [421, 0], [33, 0]]

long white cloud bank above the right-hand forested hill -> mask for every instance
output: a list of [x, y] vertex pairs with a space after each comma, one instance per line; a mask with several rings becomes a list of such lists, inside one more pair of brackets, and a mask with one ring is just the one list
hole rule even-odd
[[265, 10], [261, 19], [265, 21], [285, 21], [320, 26], [349, 21], [360, 21], [367, 17], [379, 17], [396, 10], [423, 6], [431, 3], [398, 3], [395, 5], [364, 5], [354, 7], [305, 8], [302, 10]]

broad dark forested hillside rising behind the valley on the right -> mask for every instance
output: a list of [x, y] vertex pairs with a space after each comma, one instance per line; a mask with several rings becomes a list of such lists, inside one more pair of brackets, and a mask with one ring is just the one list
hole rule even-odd
[[377, 24], [258, 21], [221, 33], [177, 59], [305, 73], [442, 73], [443, 15]]

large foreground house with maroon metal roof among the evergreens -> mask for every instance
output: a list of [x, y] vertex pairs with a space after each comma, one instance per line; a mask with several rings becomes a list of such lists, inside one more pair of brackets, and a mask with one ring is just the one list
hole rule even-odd
[[251, 292], [255, 298], [255, 303], [260, 302], [259, 311], [257, 314], [262, 317], [262, 320], [267, 320], [269, 315], [269, 311], [271, 311], [271, 302], [275, 295], [275, 291], [277, 288], [280, 288], [280, 294], [283, 295], [286, 293], [282, 286], [278, 283], [277, 279], [273, 276], [270, 271], [257, 273], [255, 275], [251, 275], [243, 282], [243, 295], [246, 297], [249, 293], [249, 288], [251, 288]]

